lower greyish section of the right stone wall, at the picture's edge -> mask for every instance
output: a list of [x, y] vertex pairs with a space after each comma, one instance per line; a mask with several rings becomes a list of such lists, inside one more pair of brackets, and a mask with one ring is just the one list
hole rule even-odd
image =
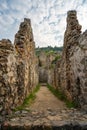
[[87, 109], [87, 31], [78, 39], [78, 45], [74, 48], [74, 54], [70, 57], [71, 63], [71, 87], [72, 98], [79, 105]]

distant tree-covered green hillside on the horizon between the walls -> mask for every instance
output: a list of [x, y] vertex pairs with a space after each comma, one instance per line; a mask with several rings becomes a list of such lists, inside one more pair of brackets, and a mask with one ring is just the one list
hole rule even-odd
[[44, 51], [45, 53], [56, 53], [56, 52], [62, 52], [63, 47], [41, 47], [41, 48], [36, 48], [36, 54], [39, 55], [42, 51]]

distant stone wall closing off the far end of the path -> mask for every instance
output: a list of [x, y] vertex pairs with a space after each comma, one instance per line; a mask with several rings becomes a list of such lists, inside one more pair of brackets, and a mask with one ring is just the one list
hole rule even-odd
[[39, 55], [39, 82], [53, 83], [54, 67], [52, 62], [55, 60], [56, 54], [46, 54], [42, 51]]

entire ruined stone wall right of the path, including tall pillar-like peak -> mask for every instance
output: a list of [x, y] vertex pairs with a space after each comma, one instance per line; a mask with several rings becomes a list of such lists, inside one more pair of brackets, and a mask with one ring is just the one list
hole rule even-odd
[[53, 86], [87, 110], [87, 30], [81, 33], [74, 10], [67, 13], [64, 48], [55, 66]]

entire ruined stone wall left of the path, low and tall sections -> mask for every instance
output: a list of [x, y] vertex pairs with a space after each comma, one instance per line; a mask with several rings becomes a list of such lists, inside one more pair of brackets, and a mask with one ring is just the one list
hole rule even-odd
[[31, 22], [24, 19], [10, 40], [0, 41], [0, 113], [9, 114], [21, 105], [38, 84], [38, 60], [35, 56]]

